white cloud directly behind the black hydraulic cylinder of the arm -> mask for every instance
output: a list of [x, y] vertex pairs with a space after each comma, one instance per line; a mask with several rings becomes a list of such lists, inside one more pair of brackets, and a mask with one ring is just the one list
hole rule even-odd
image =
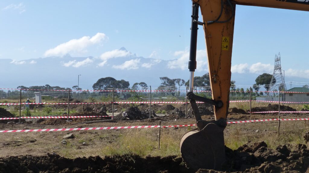
[[[178, 69], [186, 70], [188, 69], [188, 61], [189, 61], [189, 50], [176, 51], [174, 56], [180, 56], [180, 58], [176, 60], [172, 60], [167, 63], [167, 67], [170, 69]], [[207, 56], [206, 50], [197, 50], [196, 53], [196, 61], [197, 61], [197, 71], [207, 70]]]

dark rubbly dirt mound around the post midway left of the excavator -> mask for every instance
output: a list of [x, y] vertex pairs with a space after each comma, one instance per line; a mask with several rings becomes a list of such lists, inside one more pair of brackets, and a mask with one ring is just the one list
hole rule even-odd
[[[152, 111], [151, 118], [153, 118], [155, 115], [154, 111]], [[147, 119], [149, 118], [149, 110], [147, 111], [141, 111], [138, 109], [138, 107], [129, 107], [124, 112], [116, 115], [114, 119], [116, 120], [141, 120], [141, 119]]]

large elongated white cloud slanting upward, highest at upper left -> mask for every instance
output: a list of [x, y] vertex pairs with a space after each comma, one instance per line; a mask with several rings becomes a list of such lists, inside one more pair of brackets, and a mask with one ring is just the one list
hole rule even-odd
[[72, 39], [68, 42], [62, 43], [55, 48], [45, 51], [44, 56], [61, 56], [67, 53], [84, 53], [87, 52], [88, 46], [98, 44], [102, 40], [106, 39], [106, 35], [103, 33], [97, 33], [93, 37], [84, 36], [78, 39]]

